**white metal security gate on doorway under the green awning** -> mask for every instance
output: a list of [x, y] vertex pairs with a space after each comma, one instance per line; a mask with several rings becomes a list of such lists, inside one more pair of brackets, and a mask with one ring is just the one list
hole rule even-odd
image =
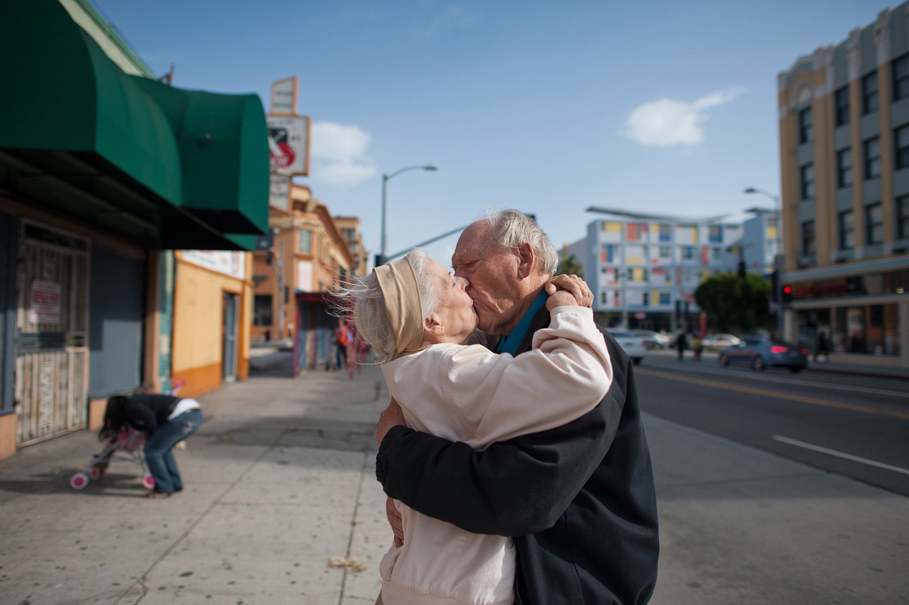
[[16, 275], [16, 444], [85, 428], [89, 243], [23, 223]]

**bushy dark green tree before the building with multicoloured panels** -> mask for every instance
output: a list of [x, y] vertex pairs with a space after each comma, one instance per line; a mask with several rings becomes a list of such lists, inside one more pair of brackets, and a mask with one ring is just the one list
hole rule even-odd
[[707, 313], [707, 325], [717, 332], [773, 327], [769, 297], [770, 283], [757, 273], [747, 273], [744, 279], [735, 273], [718, 273], [694, 291], [694, 301]]

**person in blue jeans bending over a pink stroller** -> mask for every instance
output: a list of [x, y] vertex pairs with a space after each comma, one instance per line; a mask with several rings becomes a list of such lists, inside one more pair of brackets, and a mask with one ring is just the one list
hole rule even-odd
[[115, 439], [130, 427], [145, 434], [145, 463], [155, 478], [155, 488], [145, 496], [167, 498], [183, 491], [177, 471], [174, 446], [202, 426], [202, 408], [195, 399], [174, 395], [115, 395], [107, 400], [105, 424], [98, 432], [101, 441]]

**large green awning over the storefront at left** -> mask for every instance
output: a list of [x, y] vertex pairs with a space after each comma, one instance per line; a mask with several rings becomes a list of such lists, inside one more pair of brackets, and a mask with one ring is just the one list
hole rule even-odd
[[125, 74], [56, 0], [0, 5], [0, 57], [0, 178], [33, 179], [21, 193], [59, 198], [48, 191], [75, 187], [84, 205], [97, 203], [70, 213], [132, 214], [156, 247], [203, 248], [182, 240], [205, 232], [235, 249], [225, 234], [267, 229], [268, 146], [255, 94]]

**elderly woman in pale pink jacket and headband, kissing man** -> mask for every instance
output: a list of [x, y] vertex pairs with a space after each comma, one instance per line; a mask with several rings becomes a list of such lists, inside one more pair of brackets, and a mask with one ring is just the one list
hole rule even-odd
[[[554, 293], [549, 328], [535, 332], [530, 352], [512, 357], [467, 344], [477, 316], [466, 286], [415, 250], [347, 292], [408, 426], [483, 450], [571, 422], [603, 399], [612, 366], [591, 309]], [[463, 531], [395, 504], [405, 539], [380, 564], [377, 603], [514, 602], [511, 538]]]

